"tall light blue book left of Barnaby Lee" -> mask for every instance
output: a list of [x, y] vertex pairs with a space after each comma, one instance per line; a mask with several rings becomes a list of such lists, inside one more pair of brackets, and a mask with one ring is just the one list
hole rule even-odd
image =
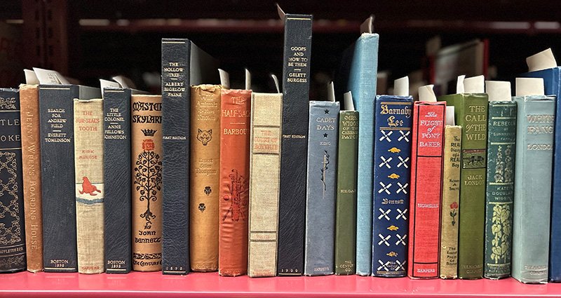
[[356, 186], [356, 273], [372, 272], [372, 196], [374, 175], [374, 98], [378, 71], [378, 34], [356, 41], [349, 77], [358, 119], [358, 184]]

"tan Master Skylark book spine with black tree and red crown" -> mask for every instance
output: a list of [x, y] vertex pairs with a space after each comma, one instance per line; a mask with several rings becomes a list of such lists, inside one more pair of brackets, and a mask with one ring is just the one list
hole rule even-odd
[[133, 270], [162, 269], [162, 97], [131, 96]]

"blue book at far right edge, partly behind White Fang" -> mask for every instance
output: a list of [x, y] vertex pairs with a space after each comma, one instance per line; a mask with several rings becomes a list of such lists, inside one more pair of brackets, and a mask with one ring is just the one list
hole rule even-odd
[[[553, 181], [551, 192], [551, 222], [561, 222], [561, 67], [527, 72], [520, 76], [529, 78], [542, 78], [546, 95], [555, 95], [557, 105], [555, 107], [555, 136], [553, 142]], [[561, 225], [551, 224], [549, 242], [549, 276], [550, 281], [561, 281]]]

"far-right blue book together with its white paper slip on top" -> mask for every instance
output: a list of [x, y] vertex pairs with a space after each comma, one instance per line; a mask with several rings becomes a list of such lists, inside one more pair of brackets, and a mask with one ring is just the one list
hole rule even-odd
[[[550, 48], [526, 59], [529, 72], [521, 76], [543, 79], [545, 94], [555, 95], [557, 102], [561, 98], [561, 67], [557, 66]], [[553, 143], [553, 174], [551, 181], [561, 180], [561, 104], [555, 108], [555, 142]], [[551, 221], [561, 222], [561, 184], [553, 183], [551, 198]], [[550, 258], [548, 278], [561, 281], [561, 226], [551, 225]]]

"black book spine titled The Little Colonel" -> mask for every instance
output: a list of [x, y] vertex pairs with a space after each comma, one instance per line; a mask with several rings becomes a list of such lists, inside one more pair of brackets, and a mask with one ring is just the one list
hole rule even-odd
[[130, 248], [130, 89], [103, 93], [105, 272], [128, 273]]

